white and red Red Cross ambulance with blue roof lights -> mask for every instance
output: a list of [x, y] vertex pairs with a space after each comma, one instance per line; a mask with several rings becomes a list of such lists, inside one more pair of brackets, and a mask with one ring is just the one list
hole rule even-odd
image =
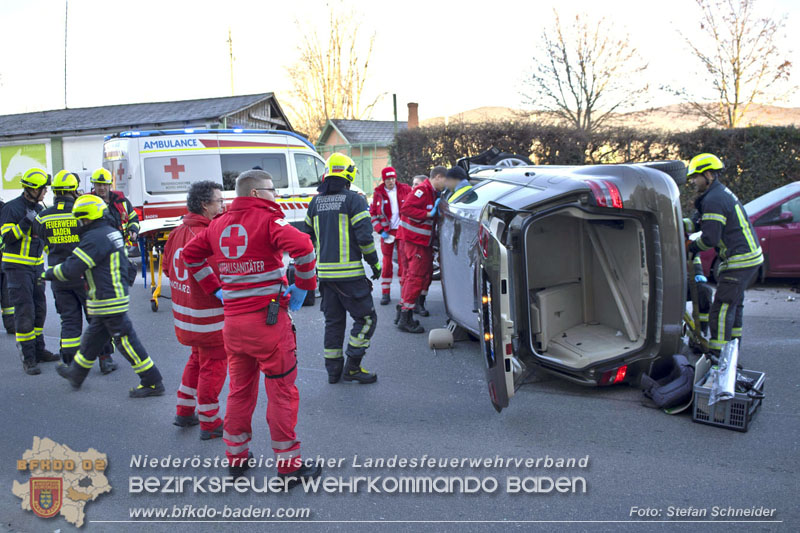
[[236, 177], [256, 167], [272, 175], [286, 220], [299, 226], [325, 173], [325, 161], [300, 135], [240, 128], [111, 135], [103, 144], [103, 166], [139, 213], [142, 234], [177, 225], [196, 181], [221, 184], [230, 205]]

